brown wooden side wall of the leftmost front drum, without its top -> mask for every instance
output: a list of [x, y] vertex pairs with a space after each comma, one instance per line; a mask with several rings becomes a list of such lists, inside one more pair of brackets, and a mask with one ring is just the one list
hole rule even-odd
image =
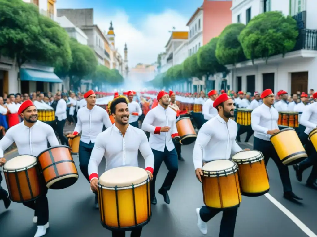
[[33, 167], [25, 168], [18, 172], [3, 170], [3, 174], [7, 183], [9, 197], [13, 202], [29, 202], [42, 195], [44, 185], [39, 175], [37, 162]]

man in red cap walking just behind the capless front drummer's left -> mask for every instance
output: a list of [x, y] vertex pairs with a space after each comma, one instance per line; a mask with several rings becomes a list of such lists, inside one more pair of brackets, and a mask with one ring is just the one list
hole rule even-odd
[[[81, 133], [79, 142], [79, 167], [81, 173], [89, 182], [88, 175], [88, 163], [91, 156], [91, 152], [94, 148], [97, 135], [102, 132], [102, 128], [105, 125], [106, 128], [112, 126], [107, 111], [100, 106], [96, 106], [96, 94], [93, 90], [89, 90], [84, 94], [84, 98], [87, 101], [85, 107], [80, 108], [77, 111], [77, 123], [73, 134], [68, 137], [75, 137]], [[95, 207], [98, 206], [98, 194], [95, 192]]]

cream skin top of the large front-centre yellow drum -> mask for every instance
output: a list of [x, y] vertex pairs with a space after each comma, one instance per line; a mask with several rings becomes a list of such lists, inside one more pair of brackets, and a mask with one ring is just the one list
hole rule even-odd
[[137, 185], [148, 179], [145, 169], [123, 166], [107, 170], [99, 178], [99, 184], [106, 187], [127, 187]]

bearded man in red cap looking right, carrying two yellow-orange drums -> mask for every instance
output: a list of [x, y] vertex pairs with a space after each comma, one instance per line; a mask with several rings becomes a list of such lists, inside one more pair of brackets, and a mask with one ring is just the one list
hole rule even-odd
[[[200, 182], [202, 182], [201, 176], [203, 175], [203, 172], [201, 168], [203, 162], [219, 159], [228, 160], [231, 153], [242, 150], [235, 141], [237, 124], [230, 119], [234, 116], [234, 101], [227, 94], [221, 94], [213, 102], [213, 107], [217, 110], [218, 115], [204, 123], [201, 127], [197, 134], [193, 150], [193, 162], [196, 177]], [[227, 134], [230, 134], [229, 138]], [[219, 236], [234, 236], [237, 211], [238, 208], [223, 211]], [[207, 234], [206, 222], [216, 216], [219, 212], [219, 210], [207, 206], [196, 209], [198, 217], [197, 226], [202, 234]]]

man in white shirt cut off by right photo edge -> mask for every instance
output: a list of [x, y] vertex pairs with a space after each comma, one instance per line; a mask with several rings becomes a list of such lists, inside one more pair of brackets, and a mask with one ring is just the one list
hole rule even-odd
[[[313, 94], [313, 98], [314, 100], [317, 99], [317, 92]], [[317, 127], [317, 103], [313, 103], [306, 107], [301, 115], [300, 124], [306, 127], [304, 133], [301, 134], [301, 142], [305, 145], [308, 157], [293, 167], [296, 171], [298, 181], [301, 182], [304, 170], [313, 166], [313, 169], [306, 181], [306, 186], [317, 190], [317, 151], [312, 142], [308, 140], [308, 134]]]

